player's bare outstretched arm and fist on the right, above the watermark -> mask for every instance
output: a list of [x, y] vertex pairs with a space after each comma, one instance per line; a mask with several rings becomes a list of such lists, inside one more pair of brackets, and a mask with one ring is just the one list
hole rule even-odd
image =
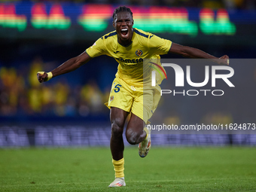
[[197, 58], [197, 59], [214, 59], [215, 62], [221, 65], [229, 65], [229, 56], [224, 55], [220, 58], [212, 56], [209, 53], [199, 50], [194, 47], [187, 47], [181, 44], [175, 44], [172, 42], [172, 47], [169, 50], [169, 53], [175, 53], [188, 58]]

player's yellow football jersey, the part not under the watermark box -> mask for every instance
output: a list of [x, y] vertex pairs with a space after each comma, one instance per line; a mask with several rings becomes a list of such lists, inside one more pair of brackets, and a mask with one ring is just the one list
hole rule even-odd
[[172, 41], [159, 38], [149, 32], [133, 28], [133, 38], [129, 46], [117, 42], [117, 32], [110, 32], [87, 48], [90, 57], [108, 55], [119, 63], [116, 77], [131, 86], [143, 86], [143, 59], [160, 59], [171, 48]]

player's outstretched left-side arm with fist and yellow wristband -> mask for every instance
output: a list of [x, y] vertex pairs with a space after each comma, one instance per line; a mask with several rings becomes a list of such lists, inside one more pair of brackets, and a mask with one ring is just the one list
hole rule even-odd
[[90, 56], [84, 51], [84, 53], [81, 53], [81, 55], [75, 56], [66, 62], [63, 62], [62, 65], [58, 66], [56, 69], [53, 69], [51, 72], [38, 72], [38, 81], [42, 83], [44, 81], [49, 81], [51, 78], [58, 75], [75, 71], [75, 69], [83, 66], [85, 63], [90, 61], [90, 59]]

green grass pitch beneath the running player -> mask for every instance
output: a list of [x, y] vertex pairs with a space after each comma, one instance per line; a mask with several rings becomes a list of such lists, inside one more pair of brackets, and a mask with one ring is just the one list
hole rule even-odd
[[0, 191], [256, 191], [256, 148], [126, 147], [126, 187], [109, 148], [0, 150]]

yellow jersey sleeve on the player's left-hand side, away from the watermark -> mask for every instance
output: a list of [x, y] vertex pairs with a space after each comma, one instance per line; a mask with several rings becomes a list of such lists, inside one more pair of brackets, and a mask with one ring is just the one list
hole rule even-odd
[[103, 38], [99, 38], [91, 47], [85, 50], [90, 57], [96, 57], [106, 54], [105, 43]]

